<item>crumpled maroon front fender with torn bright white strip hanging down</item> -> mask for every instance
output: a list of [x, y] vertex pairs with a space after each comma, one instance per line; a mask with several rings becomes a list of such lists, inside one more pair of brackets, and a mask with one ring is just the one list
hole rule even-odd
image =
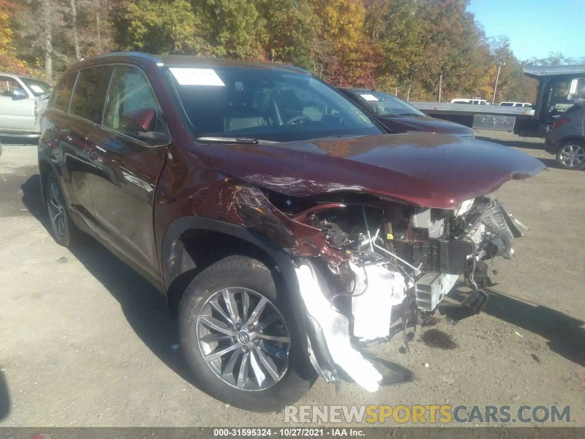
[[[347, 265], [351, 256], [328, 242], [323, 229], [311, 225], [311, 217], [344, 205], [309, 202], [310, 207], [304, 204], [295, 210], [288, 198], [274, 199], [280, 196], [253, 183], [223, 176], [205, 190], [192, 194], [190, 204], [193, 215], [260, 232], [288, 253], [297, 280], [297, 285], [289, 285], [293, 290], [290, 293], [295, 295], [291, 303], [297, 304], [295, 314], [301, 325], [304, 323], [305, 353], [326, 382], [356, 382], [374, 391], [388, 380], [393, 383], [411, 380], [412, 374], [407, 369], [394, 365], [397, 373], [392, 374], [388, 371], [392, 363], [377, 364], [354, 347], [349, 319], [331, 304], [339, 290], [339, 285], [331, 285], [331, 276], [339, 276], [339, 267]], [[207, 200], [218, 201], [208, 203]], [[290, 206], [291, 210], [285, 213], [275, 203]], [[385, 324], [389, 327], [390, 321]]]

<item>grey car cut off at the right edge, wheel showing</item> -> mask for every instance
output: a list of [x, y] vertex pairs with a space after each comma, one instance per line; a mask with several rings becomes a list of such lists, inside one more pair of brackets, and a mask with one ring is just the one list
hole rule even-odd
[[556, 118], [546, 133], [545, 150], [565, 169], [585, 167], [585, 104], [576, 104]]

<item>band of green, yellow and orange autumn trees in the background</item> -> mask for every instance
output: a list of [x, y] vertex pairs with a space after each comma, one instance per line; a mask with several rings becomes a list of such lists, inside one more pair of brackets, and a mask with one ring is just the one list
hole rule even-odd
[[[469, 0], [0, 0], [0, 70], [52, 81], [111, 50], [290, 63], [403, 98], [534, 100], [505, 37]], [[535, 62], [538, 60], [532, 60]], [[549, 63], [565, 61], [552, 54]]]

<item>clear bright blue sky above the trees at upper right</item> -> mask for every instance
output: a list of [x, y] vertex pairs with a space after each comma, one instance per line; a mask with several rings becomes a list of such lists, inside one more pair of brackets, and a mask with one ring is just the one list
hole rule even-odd
[[585, 0], [472, 0], [488, 37], [507, 35], [519, 60], [585, 56]]

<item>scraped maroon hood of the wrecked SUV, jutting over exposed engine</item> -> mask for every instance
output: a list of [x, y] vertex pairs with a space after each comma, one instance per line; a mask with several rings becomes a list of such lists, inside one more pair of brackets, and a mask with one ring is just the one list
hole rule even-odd
[[546, 169], [507, 146], [429, 133], [214, 144], [208, 151], [216, 170], [289, 196], [350, 190], [448, 209]]

